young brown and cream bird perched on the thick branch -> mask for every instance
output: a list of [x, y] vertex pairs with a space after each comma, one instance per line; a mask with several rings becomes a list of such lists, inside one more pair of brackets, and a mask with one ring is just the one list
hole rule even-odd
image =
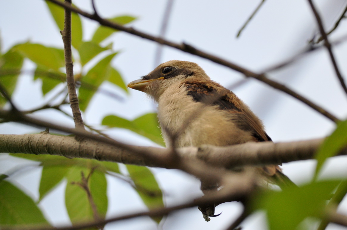
[[[248, 106], [233, 92], [212, 81], [196, 63], [165, 62], [130, 82], [128, 87], [145, 92], [158, 103], [158, 119], [167, 147], [271, 141], [262, 122]], [[279, 185], [293, 183], [278, 165], [256, 169]], [[211, 185], [202, 182], [201, 189], [208, 191]], [[214, 205], [199, 209], [206, 221], [215, 216]]]

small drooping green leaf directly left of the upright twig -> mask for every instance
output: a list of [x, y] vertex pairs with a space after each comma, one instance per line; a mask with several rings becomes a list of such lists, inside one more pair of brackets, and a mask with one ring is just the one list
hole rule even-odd
[[42, 66], [37, 66], [34, 79], [42, 80], [42, 94], [46, 95], [54, 89], [59, 83], [65, 82], [66, 74], [56, 70], [49, 70]]

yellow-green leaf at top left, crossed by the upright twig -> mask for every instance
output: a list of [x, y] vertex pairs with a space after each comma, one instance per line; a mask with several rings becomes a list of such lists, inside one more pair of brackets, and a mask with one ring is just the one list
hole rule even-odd
[[[60, 0], [61, 2], [64, 2], [64, 0]], [[51, 11], [51, 14], [53, 16], [54, 21], [56, 21], [56, 24], [59, 28], [59, 30], [64, 29], [64, 8], [58, 6], [57, 4], [54, 4], [52, 2], [45, 1], [49, 10]], [[74, 4], [72, 4], [74, 7], [76, 7]], [[81, 18], [79, 18], [79, 15], [77, 13], [72, 13], [71, 15], [71, 44], [78, 49], [79, 46], [82, 43], [82, 22]]]

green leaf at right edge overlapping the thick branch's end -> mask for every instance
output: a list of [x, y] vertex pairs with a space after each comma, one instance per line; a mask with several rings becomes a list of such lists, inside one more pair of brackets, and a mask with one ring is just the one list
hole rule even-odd
[[316, 159], [317, 166], [315, 171], [315, 178], [318, 176], [325, 160], [329, 157], [335, 156], [342, 148], [347, 145], [347, 120], [341, 121], [337, 124], [335, 131], [324, 140], [319, 148]]

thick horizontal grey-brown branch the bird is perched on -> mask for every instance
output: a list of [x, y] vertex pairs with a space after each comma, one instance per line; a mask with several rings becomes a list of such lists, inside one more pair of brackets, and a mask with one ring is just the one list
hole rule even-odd
[[[323, 139], [294, 142], [248, 142], [227, 147], [203, 146], [177, 149], [184, 159], [201, 159], [204, 162], [232, 168], [243, 165], [280, 164], [296, 160], [313, 159], [315, 151]], [[73, 137], [49, 134], [0, 135], [0, 152], [50, 154], [68, 158], [89, 158], [124, 164], [144, 165], [150, 167], [172, 168], [158, 156], [167, 156], [169, 149], [157, 147], [131, 146], [132, 150], [115, 147], [94, 140], [76, 141]], [[137, 149], [146, 152], [138, 154]], [[151, 157], [148, 157], [151, 154]], [[347, 149], [339, 155], [346, 155]], [[168, 167], [170, 166], [170, 167]]]

